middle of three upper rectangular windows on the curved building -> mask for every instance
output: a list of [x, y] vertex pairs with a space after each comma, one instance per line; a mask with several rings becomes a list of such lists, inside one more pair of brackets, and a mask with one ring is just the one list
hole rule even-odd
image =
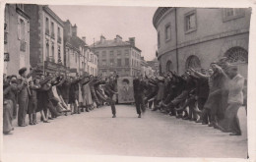
[[196, 11], [189, 12], [185, 15], [186, 33], [196, 30]]

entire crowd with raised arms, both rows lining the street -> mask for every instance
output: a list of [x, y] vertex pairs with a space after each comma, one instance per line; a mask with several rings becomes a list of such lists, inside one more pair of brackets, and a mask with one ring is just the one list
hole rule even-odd
[[[29, 124], [36, 125], [37, 112], [43, 123], [49, 123], [58, 116], [110, 105], [112, 118], [116, 118], [116, 73], [102, 79], [59, 73], [35, 75], [35, 71], [27, 75], [23, 68], [19, 77], [4, 75], [4, 134], [14, 130], [12, 121], [17, 117], [18, 126], [26, 127], [27, 114]], [[133, 80], [136, 112], [142, 118], [146, 108], [160, 110], [229, 135], [241, 135], [237, 112], [242, 105], [246, 108], [246, 82], [226, 58], [212, 63], [208, 70], [189, 68], [181, 76], [171, 71], [153, 77], [138, 74]]]

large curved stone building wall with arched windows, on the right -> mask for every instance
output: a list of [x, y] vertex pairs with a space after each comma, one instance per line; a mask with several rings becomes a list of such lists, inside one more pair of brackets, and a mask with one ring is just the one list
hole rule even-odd
[[159, 8], [153, 24], [160, 72], [182, 74], [227, 57], [247, 77], [250, 14], [249, 9]]

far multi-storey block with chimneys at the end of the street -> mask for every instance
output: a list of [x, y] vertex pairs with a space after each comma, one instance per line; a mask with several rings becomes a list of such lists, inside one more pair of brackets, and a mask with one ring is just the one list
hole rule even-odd
[[135, 76], [141, 72], [141, 50], [135, 46], [135, 37], [123, 41], [120, 35], [112, 40], [100, 36], [91, 45], [98, 60], [98, 74], [109, 76], [117, 72], [119, 76]]

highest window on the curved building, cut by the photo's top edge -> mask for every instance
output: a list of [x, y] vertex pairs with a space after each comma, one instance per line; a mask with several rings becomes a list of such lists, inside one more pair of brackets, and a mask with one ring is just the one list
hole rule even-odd
[[224, 22], [244, 17], [244, 9], [227, 8], [224, 9]]

